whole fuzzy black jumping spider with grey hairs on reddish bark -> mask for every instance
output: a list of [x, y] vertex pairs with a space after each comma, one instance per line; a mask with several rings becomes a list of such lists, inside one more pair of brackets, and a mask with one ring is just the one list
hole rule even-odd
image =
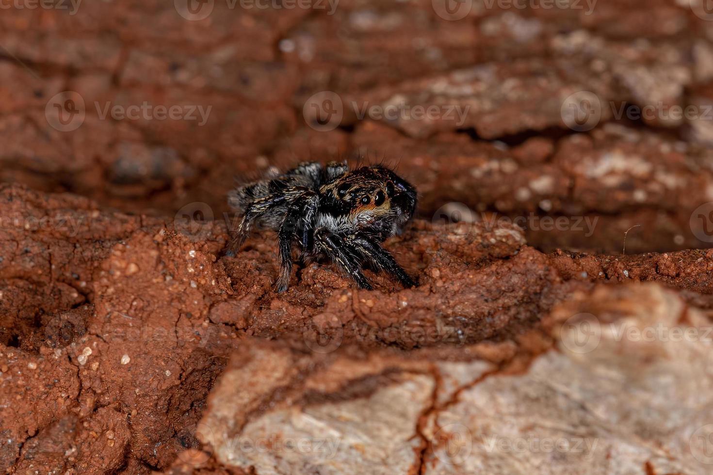
[[277, 231], [277, 291], [287, 290], [295, 243], [305, 260], [327, 256], [360, 288], [371, 289], [361, 272], [365, 265], [391, 273], [406, 287], [416, 285], [381, 247], [416, 209], [416, 189], [386, 167], [349, 170], [344, 163], [304, 162], [235, 189], [228, 202], [242, 213], [229, 252], [240, 250], [255, 221]]

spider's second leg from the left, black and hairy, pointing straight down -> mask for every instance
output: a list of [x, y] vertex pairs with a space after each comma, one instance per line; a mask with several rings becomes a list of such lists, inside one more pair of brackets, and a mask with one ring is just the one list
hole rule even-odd
[[275, 287], [278, 292], [286, 291], [289, 286], [289, 277], [292, 275], [292, 241], [298, 232], [302, 233], [304, 241], [307, 231], [314, 228], [318, 205], [317, 193], [308, 191], [300, 194], [287, 207], [287, 213], [284, 215], [282, 225], [279, 226], [279, 231], [277, 231], [279, 278], [277, 278]]

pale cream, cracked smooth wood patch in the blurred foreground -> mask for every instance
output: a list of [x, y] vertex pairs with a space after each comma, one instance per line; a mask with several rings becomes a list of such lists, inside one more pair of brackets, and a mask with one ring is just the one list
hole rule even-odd
[[[710, 339], [622, 335], [702, 336], [710, 324], [660, 286], [599, 286], [550, 313], [553, 348], [520, 370], [507, 347], [488, 361], [478, 346], [324, 355], [251, 343], [198, 437], [218, 461], [258, 473], [704, 474]], [[543, 338], [528, 335], [540, 350]]]

